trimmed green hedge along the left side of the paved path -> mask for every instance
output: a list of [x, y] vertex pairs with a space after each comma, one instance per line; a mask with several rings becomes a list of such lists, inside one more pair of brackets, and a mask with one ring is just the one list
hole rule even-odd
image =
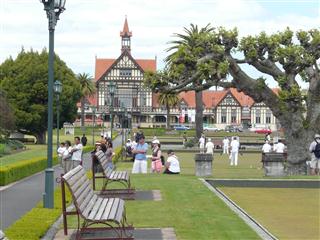
[[[92, 150], [92, 146], [84, 147], [84, 152]], [[53, 165], [58, 164], [57, 156], [53, 157]], [[18, 181], [32, 174], [40, 172], [47, 167], [47, 158], [38, 157], [24, 160], [8, 166], [0, 166], [0, 186]]]

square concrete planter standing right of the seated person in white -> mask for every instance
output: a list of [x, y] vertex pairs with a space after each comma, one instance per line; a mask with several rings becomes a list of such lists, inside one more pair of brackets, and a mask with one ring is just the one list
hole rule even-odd
[[204, 177], [212, 175], [212, 154], [198, 153], [195, 155], [194, 160], [196, 176]]

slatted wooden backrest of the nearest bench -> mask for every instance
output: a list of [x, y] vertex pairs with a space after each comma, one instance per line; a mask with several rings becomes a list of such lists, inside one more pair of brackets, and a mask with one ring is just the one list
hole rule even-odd
[[87, 206], [94, 204], [97, 195], [94, 194], [89, 179], [82, 166], [77, 166], [62, 177], [67, 183], [67, 186], [72, 194], [74, 205], [78, 213], [88, 218], [88, 213], [85, 213]]

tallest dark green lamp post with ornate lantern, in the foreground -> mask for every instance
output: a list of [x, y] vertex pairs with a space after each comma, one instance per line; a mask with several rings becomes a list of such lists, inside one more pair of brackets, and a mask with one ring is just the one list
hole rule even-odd
[[52, 125], [53, 125], [53, 61], [54, 61], [54, 29], [59, 15], [65, 10], [66, 0], [41, 0], [49, 20], [49, 62], [48, 62], [48, 150], [47, 169], [45, 174], [45, 193], [43, 205], [53, 208], [53, 168], [52, 168]]

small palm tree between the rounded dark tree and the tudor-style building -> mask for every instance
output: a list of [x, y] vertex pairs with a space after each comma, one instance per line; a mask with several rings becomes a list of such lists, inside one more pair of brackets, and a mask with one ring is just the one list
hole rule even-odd
[[88, 73], [79, 73], [77, 76], [81, 90], [81, 127], [84, 126], [84, 105], [86, 97], [92, 96], [96, 92], [96, 86], [92, 77]]

